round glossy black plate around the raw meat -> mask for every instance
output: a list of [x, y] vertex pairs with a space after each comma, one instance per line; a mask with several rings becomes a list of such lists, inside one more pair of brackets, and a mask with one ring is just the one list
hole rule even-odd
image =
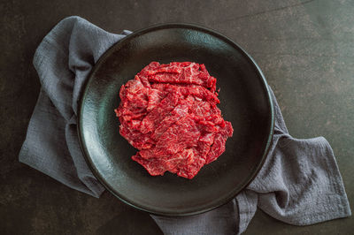
[[[151, 177], [131, 160], [119, 135], [119, 87], [151, 61], [205, 64], [220, 87], [219, 108], [232, 123], [226, 152], [195, 178]], [[95, 65], [81, 97], [81, 148], [102, 184], [127, 204], [165, 216], [201, 213], [230, 201], [254, 178], [273, 136], [273, 104], [258, 65], [235, 42], [203, 27], [168, 24], [130, 34]]]

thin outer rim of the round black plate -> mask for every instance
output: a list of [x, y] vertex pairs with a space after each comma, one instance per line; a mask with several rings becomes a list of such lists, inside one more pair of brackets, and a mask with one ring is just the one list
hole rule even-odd
[[[217, 203], [215, 203], [215, 205], [213, 205], [212, 207], [209, 208], [201, 208], [195, 211], [190, 211], [187, 213], [166, 213], [166, 212], [162, 212], [162, 211], [158, 211], [154, 208], [148, 208], [145, 207], [144, 205], [138, 205], [135, 204], [134, 201], [130, 201], [129, 199], [127, 199], [126, 197], [124, 197], [123, 195], [121, 195], [119, 192], [115, 191], [111, 186], [109, 186], [109, 184], [107, 184], [107, 182], [104, 179], [104, 176], [102, 176], [101, 174], [99, 174], [99, 172], [97, 171], [97, 169], [95, 168], [94, 163], [92, 163], [90, 157], [89, 157], [89, 151], [88, 148], [85, 145], [84, 142], [84, 137], [83, 137], [83, 126], [82, 126], [82, 110], [83, 110], [83, 101], [85, 100], [85, 96], [88, 90], [88, 84], [89, 84], [89, 80], [91, 80], [93, 77], [91, 76], [94, 72], [96, 72], [96, 69], [99, 67], [100, 64], [102, 64], [102, 62], [104, 61], [105, 57], [108, 57], [110, 55], [110, 50], [114, 47], [114, 48], [119, 48], [119, 45], [121, 47], [121, 45], [123, 45], [123, 42], [130, 40], [131, 38], [134, 38], [136, 36], [139, 36], [141, 34], [146, 34], [149, 33], [150, 31], [154, 31], [154, 30], [158, 30], [158, 29], [164, 29], [164, 28], [188, 28], [188, 29], [193, 29], [193, 30], [197, 30], [197, 31], [202, 31], [206, 34], [212, 34], [213, 36], [218, 37], [219, 39], [230, 43], [230, 45], [233, 45], [235, 49], [237, 49], [238, 51], [240, 51], [242, 53], [242, 55], [249, 60], [250, 64], [253, 64], [256, 68], [256, 71], [258, 73], [258, 77], [260, 78], [260, 80], [262, 80], [263, 85], [266, 88], [266, 92], [267, 92], [267, 96], [268, 96], [268, 103], [269, 106], [271, 108], [271, 120], [270, 120], [270, 124], [269, 125], [269, 134], [268, 134], [268, 139], [266, 140], [266, 147], [264, 148], [264, 154], [262, 155], [262, 160], [261, 162], [258, 164], [258, 167], [256, 169], [256, 171], [253, 172], [253, 174], [250, 177], [250, 180], [247, 182], [245, 182], [243, 184], [243, 186], [239, 187], [241, 189], [235, 190], [235, 192], [230, 193], [230, 196], [225, 198], [224, 200], [221, 201], [217, 201]], [[202, 27], [202, 26], [197, 26], [195, 24], [186, 24], [186, 23], [167, 23], [167, 24], [158, 24], [158, 25], [153, 25], [151, 27], [146, 27], [146, 28], [142, 28], [140, 30], [135, 31], [132, 34], [127, 35], [126, 37], [124, 37], [123, 39], [121, 39], [119, 42], [115, 43], [112, 45], [112, 47], [110, 49], [107, 49], [104, 54], [97, 60], [96, 64], [94, 65], [94, 67], [92, 68], [91, 72], [89, 72], [89, 76], [88, 76], [88, 80], [86, 80], [85, 84], [84, 84], [84, 90], [81, 93], [81, 97], [79, 99], [79, 112], [78, 112], [78, 125], [77, 125], [77, 133], [79, 136], [79, 142], [80, 142], [80, 146], [81, 146], [81, 151], [84, 155], [85, 161], [86, 163], [88, 163], [89, 165], [89, 169], [93, 172], [94, 176], [101, 182], [101, 184], [109, 191], [111, 192], [114, 196], [116, 196], [117, 198], [119, 198], [120, 201], [125, 202], [127, 205], [132, 206], [133, 208], [137, 208], [140, 209], [142, 211], [148, 212], [150, 214], [153, 215], [158, 215], [158, 216], [193, 216], [193, 215], [197, 215], [197, 214], [201, 214], [207, 211], [210, 211], [214, 208], [219, 208], [220, 206], [226, 204], [228, 201], [231, 201], [232, 199], [235, 198], [235, 196], [240, 193], [245, 187], [250, 185], [250, 182], [252, 182], [252, 180], [254, 178], [256, 178], [256, 176], [258, 175], [258, 172], [260, 171], [260, 169], [262, 168], [263, 164], [266, 161], [266, 156], [268, 154], [269, 151], [269, 147], [272, 143], [273, 140], [273, 128], [274, 128], [274, 108], [273, 108], [273, 101], [272, 101], [272, 95], [270, 93], [269, 87], [267, 85], [266, 82], [266, 78], [263, 74], [263, 72], [260, 70], [258, 64], [255, 62], [255, 60], [250, 57], [250, 55], [244, 50], [242, 49], [236, 42], [233, 42], [232, 40], [230, 40], [229, 38], [227, 38], [227, 36], [223, 35], [223, 34], [219, 34], [218, 32], [207, 28], [207, 27]]]

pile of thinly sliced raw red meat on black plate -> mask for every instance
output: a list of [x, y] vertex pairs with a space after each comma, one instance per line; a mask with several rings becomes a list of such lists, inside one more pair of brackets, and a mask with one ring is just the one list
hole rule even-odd
[[225, 151], [234, 130], [221, 117], [216, 79], [204, 64], [151, 62], [120, 87], [119, 133], [151, 176], [194, 178]]

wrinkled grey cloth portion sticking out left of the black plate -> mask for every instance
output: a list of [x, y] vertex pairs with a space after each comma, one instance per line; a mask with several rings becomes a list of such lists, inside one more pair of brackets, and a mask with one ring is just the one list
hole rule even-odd
[[110, 34], [85, 19], [63, 19], [35, 51], [41, 92], [19, 161], [66, 186], [99, 197], [104, 187], [89, 171], [76, 133], [82, 86], [92, 66], [123, 34]]

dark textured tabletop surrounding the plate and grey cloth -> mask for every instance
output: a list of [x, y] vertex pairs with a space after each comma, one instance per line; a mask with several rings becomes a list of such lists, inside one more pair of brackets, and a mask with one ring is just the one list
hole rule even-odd
[[[104, 2], [104, 4], [102, 3]], [[112, 33], [156, 23], [211, 27], [258, 62], [296, 138], [332, 145], [354, 204], [354, 1], [46, 1], [0, 4], [0, 234], [161, 234], [110, 193], [76, 192], [18, 162], [40, 84], [36, 46], [79, 15]], [[257, 212], [245, 234], [352, 234], [354, 218], [297, 227]]]

